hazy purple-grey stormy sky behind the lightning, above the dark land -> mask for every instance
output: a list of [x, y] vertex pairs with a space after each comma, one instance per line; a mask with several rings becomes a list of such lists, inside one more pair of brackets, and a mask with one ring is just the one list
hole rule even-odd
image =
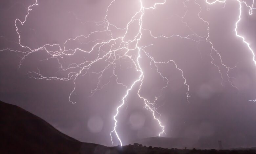
[[112, 145], [123, 104], [124, 145], [256, 146], [256, 6], [211, 2], [0, 1], [0, 100], [82, 142]]

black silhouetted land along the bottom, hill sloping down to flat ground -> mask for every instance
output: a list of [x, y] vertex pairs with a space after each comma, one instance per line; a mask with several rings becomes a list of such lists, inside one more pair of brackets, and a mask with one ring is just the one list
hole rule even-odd
[[107, 147], [79, 142], [43, 119], [14, 105], [0, 101], [0, 153], [60, 153], [60, 154], [256, 154], [256, 149], [197, 150], [167, 149], [139, 145]]

